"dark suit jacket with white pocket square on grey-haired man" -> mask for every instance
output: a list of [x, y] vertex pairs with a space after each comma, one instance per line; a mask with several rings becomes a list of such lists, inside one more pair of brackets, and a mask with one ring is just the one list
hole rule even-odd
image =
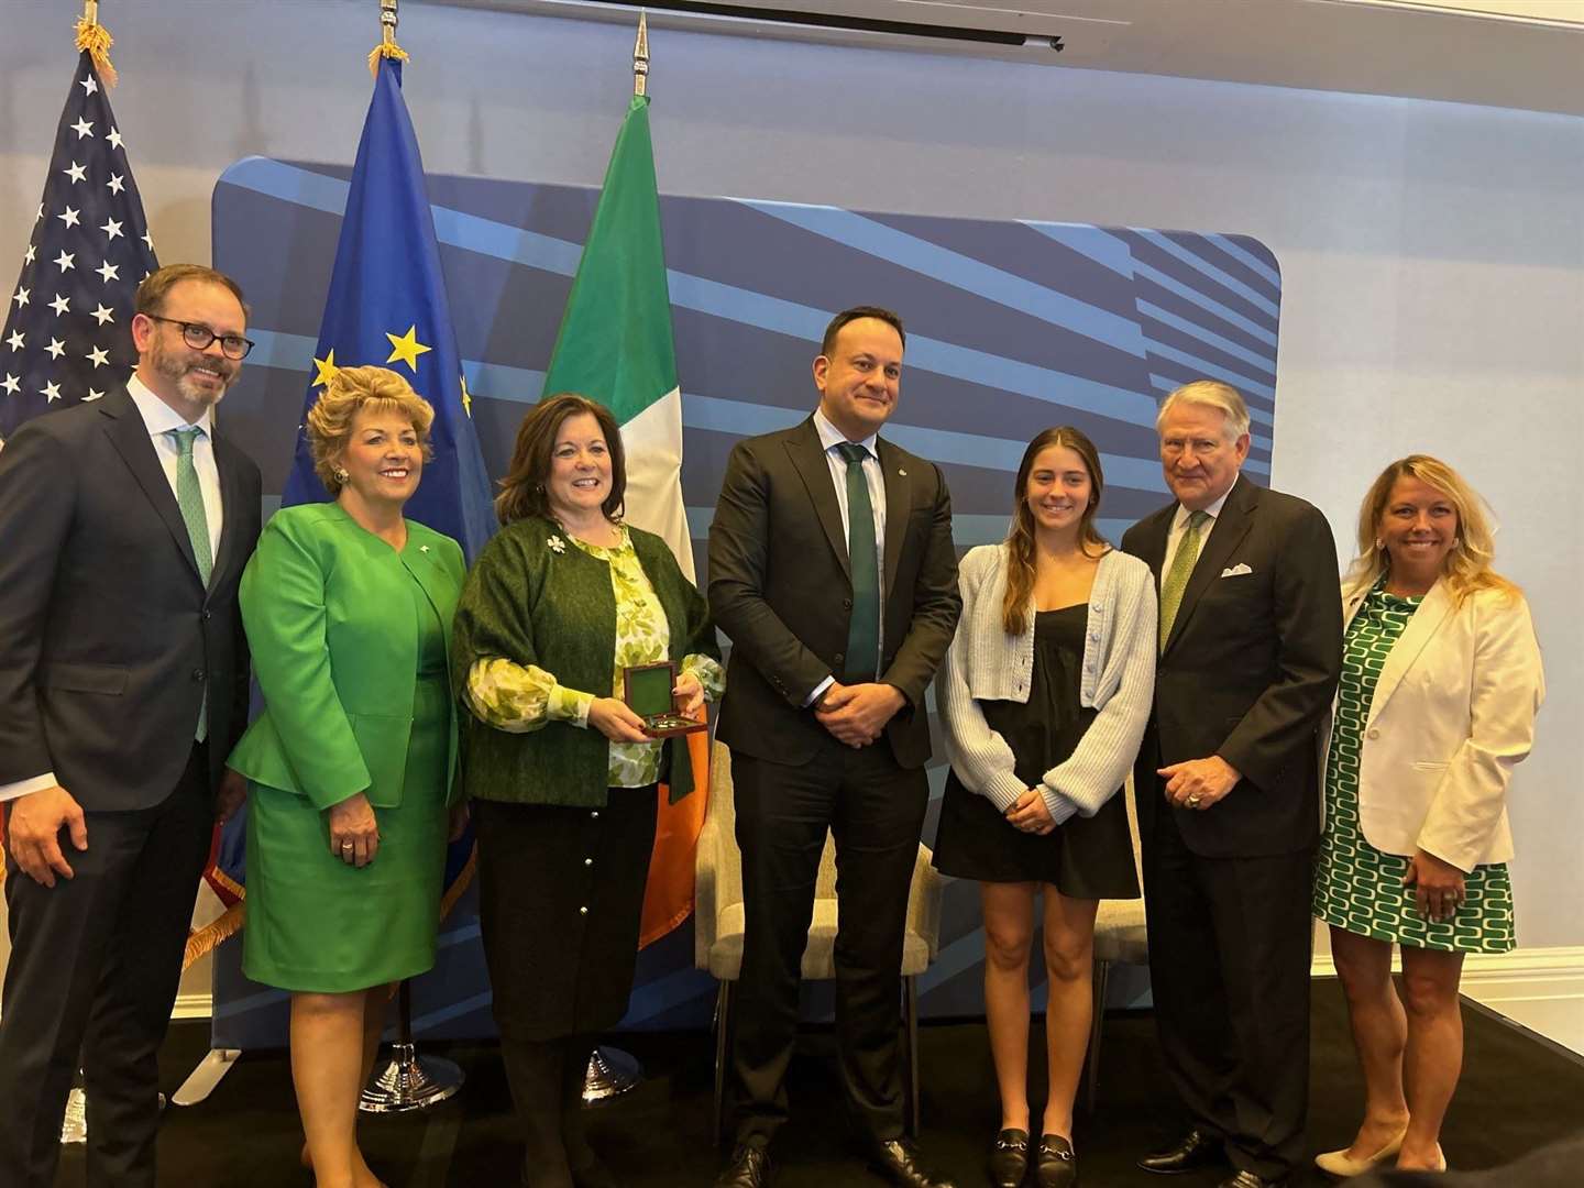
[[[1156, 589], [1175, 513], [1177, 504], [1163, 507], [1121, 539], [1155, 570]], [[1316, 738], [1342, 673], [1340, 613], [1326, 518], [1302, 499], [1239, 478], [1156, 662], [1155, 710], [1134, 773], [1142, 832], [1155, 813], [1171, 811], [1188, 847], [1205, 857], [1315, 844]], [[1155, 770], [1212, 754], [1243, 775], [1237, 787], [1210, 809], [1167, 806]]]

